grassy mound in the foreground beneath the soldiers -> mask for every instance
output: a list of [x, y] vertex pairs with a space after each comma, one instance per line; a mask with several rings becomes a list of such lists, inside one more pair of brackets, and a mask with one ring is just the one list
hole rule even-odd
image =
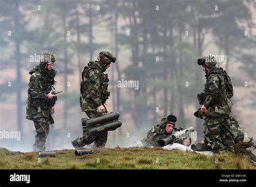
[[0, 169], [256, 169], [247, 155], [213, 156], [161, 148], [93, 148], [76, 156], [75, 150], [56, 150], [56, 157], [37, 152], [11, 152], [0, 148]]

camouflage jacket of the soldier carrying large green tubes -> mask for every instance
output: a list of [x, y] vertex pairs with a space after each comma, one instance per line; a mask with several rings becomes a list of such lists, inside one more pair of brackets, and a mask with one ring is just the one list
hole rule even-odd
[[80, 88], [80, 105], [82, 111], [96, 111], [110, 96], [109, 78], [104, 74], [106, 68], [98, 61], [90, 61], [83, 71]]

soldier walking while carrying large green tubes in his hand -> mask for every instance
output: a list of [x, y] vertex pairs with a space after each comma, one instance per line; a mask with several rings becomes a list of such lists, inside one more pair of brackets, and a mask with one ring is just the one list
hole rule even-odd
[[[104, 72], [110, 67], [111, 62], [116, 62], [116, 57], [106, 51], [100, 52], [97, 61], [90, 61], [82, 72], [80, 106], [89, 118], [95, 118], [107, 112], [104, 104], [110, 96], [107, 90], [109, 78]], [[85, 132], [82, 137], [72, 141], [72, 145], [75, 148], [82, 148], [95, 142], [93, 147], [104, 147], [106, 141], [107, 131], [95, 137]]]

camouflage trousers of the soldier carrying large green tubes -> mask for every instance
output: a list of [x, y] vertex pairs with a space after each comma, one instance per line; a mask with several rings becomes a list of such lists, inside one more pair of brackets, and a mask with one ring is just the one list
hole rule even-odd
[[[89, 118], [95, 118], [96, 116], [97, 117], [100, 116], [100, 114], [97, 111], [86, 111], [85, 113]], [[92, 142], [95, 142], [93, 147], [104, 147], [107, 141], [107, 131], [100, 132], [95, 136], [88, 135], [85, 132], [83, 136], [80, 138], [77, 138], [76, 141], [79, 147], [89, 145]]]

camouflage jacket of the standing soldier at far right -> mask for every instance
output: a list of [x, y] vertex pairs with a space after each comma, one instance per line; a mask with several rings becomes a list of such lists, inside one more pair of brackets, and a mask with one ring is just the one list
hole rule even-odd
[[225, 79], [219, 73], [218, 67], [213, 67], [205, 75], [205, 102], [207, 112], [203, 117], [230, 118], [232, 101], [227, 97]]

